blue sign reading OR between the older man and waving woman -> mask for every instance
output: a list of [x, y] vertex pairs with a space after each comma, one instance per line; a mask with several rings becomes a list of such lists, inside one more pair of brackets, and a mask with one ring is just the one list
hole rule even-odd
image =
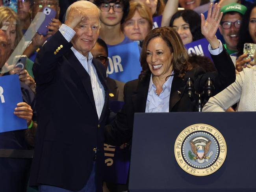
[[110, 78], [124, 83], [138, 78], [141, 64], [137, 42], [109, 47], [108, 55], [107, 74]]

